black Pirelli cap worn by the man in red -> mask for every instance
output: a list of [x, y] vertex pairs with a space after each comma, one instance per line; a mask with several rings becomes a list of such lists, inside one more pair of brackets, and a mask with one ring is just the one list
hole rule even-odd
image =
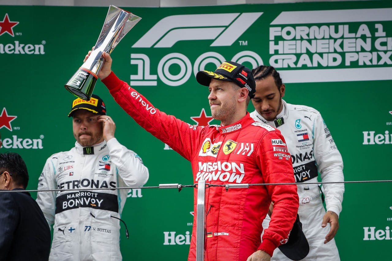
[[240, 87], [247, 88], [250, 98], [254, 97], [256, 82], [254, 81], [252, 71], [240, 63], [226, 61], [214, 72], [200, 71], [196, 74], [196, 80], [201, 85], [209, 86], [211, 79], [234, 82]]

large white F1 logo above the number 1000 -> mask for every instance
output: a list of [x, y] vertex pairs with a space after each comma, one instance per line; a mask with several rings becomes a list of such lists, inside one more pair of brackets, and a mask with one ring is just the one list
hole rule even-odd
[[[263, 13], [180, 14], [162, 18], [132, 47], [172, 47], [183, 40], [232, 45]], [[215, 26], [215, 27], [212, 27]]]

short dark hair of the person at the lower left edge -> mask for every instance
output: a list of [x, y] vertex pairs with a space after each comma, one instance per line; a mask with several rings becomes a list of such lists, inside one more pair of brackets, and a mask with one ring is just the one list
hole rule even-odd
[[12, 174], [12, 179], [17, 186], [27, 187], [29, 173], [24, 160], [18, 153], [0, 153], [0, 173], [3, 171], [8, 171]]

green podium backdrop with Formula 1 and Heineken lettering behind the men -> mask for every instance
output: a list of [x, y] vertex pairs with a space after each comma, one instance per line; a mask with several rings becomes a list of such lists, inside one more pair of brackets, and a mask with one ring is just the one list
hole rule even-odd
[[[286, 83], [285, 100], [323, 115], [346, 181], [391, 179], [392, 2], [122, 8], [142, 20], [114, 49], [113, 70], [162, 111], [197, 124], [191, 117], [211, 112], [196, 71], [224, 60], [274, 65]], [[95, 44], [106, 14], [107, 7], [0, 6], [0, 152], [22, 155], [28, 189], [36, 189], [51, 154], [74, 145], [67, 118], [74, 96], [63, 86]], [[94, 93], [116, 122], [118, 140], [149, 168], [147, 186], [192, 184], [189, 162], [136, 125], [101, 82]], [[346, 184], [336, 235], [341, 260], [390, 259], [390, 190], [391, 183]], [[186, 260], [192, 193], [130, 191], [122, 214], [130, 231], [125, 239], [121, 230], [124, 260]]]

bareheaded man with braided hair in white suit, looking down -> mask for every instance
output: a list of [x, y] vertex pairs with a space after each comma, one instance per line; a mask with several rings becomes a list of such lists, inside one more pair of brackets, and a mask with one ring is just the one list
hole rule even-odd
[[[256, 93], [252, 99], [255, 111], [250, 116], [281, 131], [292, 157], [296, 183], [302, 183], [298, 185], [298, 214], [310, 246], [302, 260], [340, 260], [334, 236], [339, 228], [344, 184], [323, 184], [324, 193], [317, 184], [306, 184], [317, 182], [318, 173], [324, 182], [344, 181], [343, 160], [331, 133], [316, 109], [282, 99], [285, 85], [274, 67], [261, 65], [252, 74]], [[268, 223], [269, 216], [263, 227]], [[276, 248], [271, 260], [290, 259]]]

